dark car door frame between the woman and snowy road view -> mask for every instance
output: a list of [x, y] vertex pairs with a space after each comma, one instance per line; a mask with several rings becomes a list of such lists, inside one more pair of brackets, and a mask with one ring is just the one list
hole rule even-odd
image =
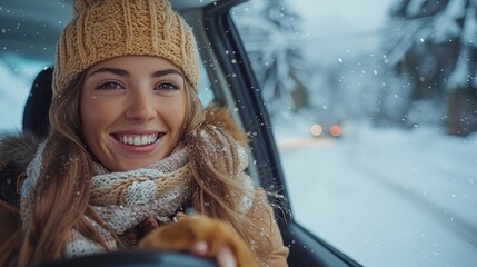
[[[277, 222], [284, 243], [290, 248], [290, 266], [360, 266], [330, 244], [301, 227], [292, 218], [286, 180], [280, 157], [275, 144], [266, 106], [259, 83], [247, 58], [240, 36], [230, 14], [231, 8], [247, 0], [221, 0], [195, 12], [193, 20], [199, 21], [201, 34], [199, 50], [207, 72], [216, 80], [211, 85], [216, 101], [233, 108], [244, 129], [250, 134], [250, 148], [259, 174], [260, 185], [288, 201], [281, 201], [276, 209]], [[215, 79], [217, 78], [217, 79]], [[272, 200], [272, 199], [270, 199]], [[282, 212], [287, 210], [287, 212]]]

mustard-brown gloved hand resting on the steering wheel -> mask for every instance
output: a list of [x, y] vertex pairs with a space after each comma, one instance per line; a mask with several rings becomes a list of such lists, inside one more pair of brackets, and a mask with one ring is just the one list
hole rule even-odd
[[226, 222], [202, 216], [179, 219], [148, 234], [139, 249], [187, 251], [213, 258], [220, 267], [255, 267], [249, 245]]

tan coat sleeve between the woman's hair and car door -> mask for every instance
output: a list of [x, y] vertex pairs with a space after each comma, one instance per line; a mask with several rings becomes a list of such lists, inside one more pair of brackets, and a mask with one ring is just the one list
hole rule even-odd
[[284, 246], [280, 230], [275, 220], [274, 210], [267, 200], [264, 189], [257, 189], [254, 205], [248, 211], [248, 218], [255, 227], [251, 247], [261, 266], [286, 267], [289, 248]]

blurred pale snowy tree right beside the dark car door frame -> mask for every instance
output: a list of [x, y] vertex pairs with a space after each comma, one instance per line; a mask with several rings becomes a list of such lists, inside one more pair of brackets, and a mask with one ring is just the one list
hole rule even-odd
[[247, 8], [236, 10], [235, 16], [270, 115], [306, 107], [306, 80], [310, 75], [300, 49], [295, 46], [299, 16], [282, 0], [250, 1]]

